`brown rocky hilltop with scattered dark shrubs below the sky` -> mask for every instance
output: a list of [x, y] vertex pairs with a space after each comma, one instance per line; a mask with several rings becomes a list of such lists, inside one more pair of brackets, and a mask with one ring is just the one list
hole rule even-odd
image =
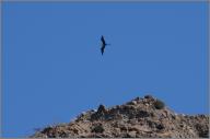
[[33, 138], [209, 138], [209, 115], [176, 114], [151, 96], [88, 111], [68, 124], [48, 126]]

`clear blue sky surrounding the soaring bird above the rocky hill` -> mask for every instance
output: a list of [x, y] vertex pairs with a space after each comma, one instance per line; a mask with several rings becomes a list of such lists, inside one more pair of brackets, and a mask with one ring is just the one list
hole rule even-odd
[[[152, 94], [208, 114], [207, 3], [3, 3], [3, 137]], [[107, 46], [102, 57], [101, 35]]]

